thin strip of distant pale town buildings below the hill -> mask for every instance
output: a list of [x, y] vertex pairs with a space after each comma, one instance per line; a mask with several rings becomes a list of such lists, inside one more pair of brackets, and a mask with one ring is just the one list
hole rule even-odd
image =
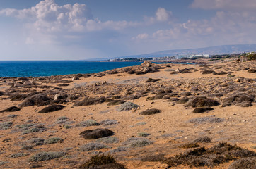
[[196, 60], [198, 58], [229, 58], [229, 57], [239, 57], [243, 55], [256, 54], [255, 52], [241, 53], [241, 54], [222, 54], [222, 55], [210, 55], [210, 54], [186, 54], [186, 55], [176, 55], [176, 56], [163, 56], [163, 57], [140, 57], [140, 58], [115, 58], [108, 59], [107, 61], [174, 61], [174, 60]]

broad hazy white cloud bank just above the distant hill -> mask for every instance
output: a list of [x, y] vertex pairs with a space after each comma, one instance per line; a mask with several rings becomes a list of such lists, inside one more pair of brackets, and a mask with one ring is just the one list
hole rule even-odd
[[[255, 12], [216, 12], [209, 20], [173, 23], [170, 29], [157, 30], [147, 36], [148, 43], [165, 48], [255, 43]], [[139, 35], [134, 38], [139, 40]], [[144, 41], [145, 42], [145, 41]]]

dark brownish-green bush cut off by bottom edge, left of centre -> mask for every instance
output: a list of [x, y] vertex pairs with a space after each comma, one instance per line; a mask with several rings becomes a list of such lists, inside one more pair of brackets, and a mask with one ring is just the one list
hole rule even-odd
[[79, 169], [89, 169], [89, 168], [112, 168], [112, 169], [125, 169], [124, 165], [117, 163], [115, 158], [110, 154], [108, 156], [103, 155], [95, 155], [92, 156], [89, 161], [83, 163], [79, 167]]

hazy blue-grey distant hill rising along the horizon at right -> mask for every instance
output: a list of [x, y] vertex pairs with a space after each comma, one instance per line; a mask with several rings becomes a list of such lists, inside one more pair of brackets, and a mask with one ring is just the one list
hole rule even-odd
[[256, 51], [256, 44], [235, 44], [235, 45], [221, 45], [211, 46], [206, 48], [197, 49], [176, 49], [167, 51], [157, 51], [151, 54], [122, 56], [120, 58], [151, 58], [151, 57], [163, 57], [163, 56], [177, 56], [187, 54], [238, 54], [243, 52]]

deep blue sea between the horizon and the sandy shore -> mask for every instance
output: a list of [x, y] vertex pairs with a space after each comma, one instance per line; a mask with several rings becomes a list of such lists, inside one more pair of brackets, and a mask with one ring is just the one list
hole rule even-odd
[[98, 61], [0, 61], [0, 77], [40, 77], [105, 70], [140, 65], [141, 62]]

